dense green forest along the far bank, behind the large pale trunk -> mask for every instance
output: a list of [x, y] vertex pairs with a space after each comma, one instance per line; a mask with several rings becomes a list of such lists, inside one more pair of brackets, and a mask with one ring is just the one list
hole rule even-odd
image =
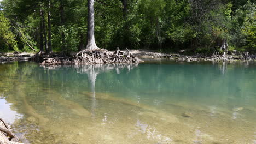
[[[2, 0], [0, 52], [85, 49], [86, 0]], [[256, 51], [255, 0], [95, 0], [100, 48]]]

